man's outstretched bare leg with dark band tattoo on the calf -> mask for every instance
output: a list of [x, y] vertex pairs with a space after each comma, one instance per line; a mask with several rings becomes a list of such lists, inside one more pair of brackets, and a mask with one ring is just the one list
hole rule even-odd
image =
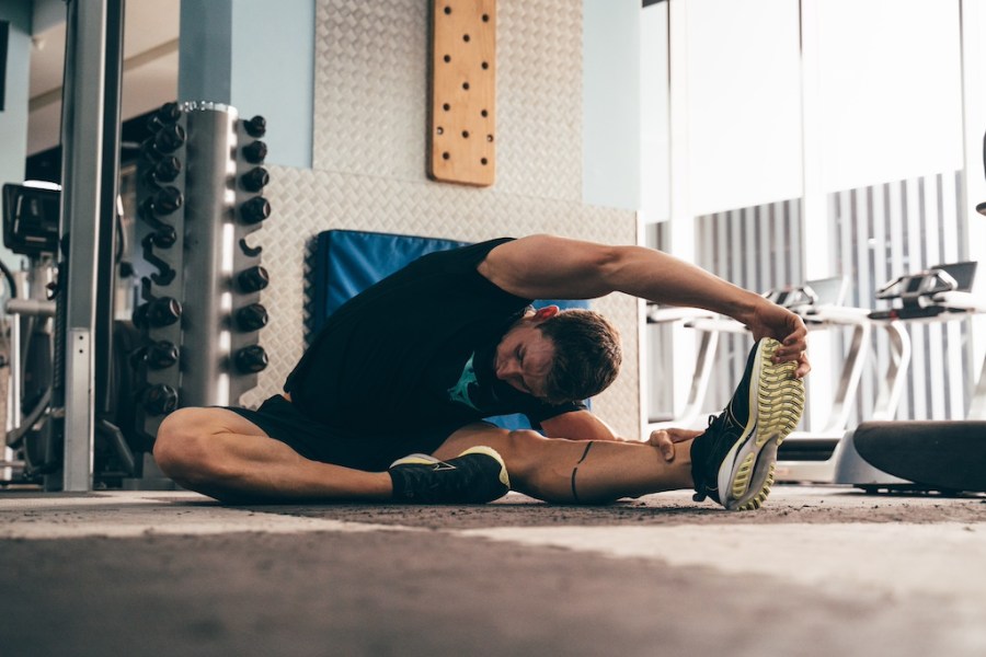
[[433, 456], [447, 460], [486, 445], [503, 457], [515, 491], [548, 502], [603, 503], [691, 488], [691, 443], [675, 443], [668, 462], [643, 442], [564, 440], [475, 424], [452, 434]]

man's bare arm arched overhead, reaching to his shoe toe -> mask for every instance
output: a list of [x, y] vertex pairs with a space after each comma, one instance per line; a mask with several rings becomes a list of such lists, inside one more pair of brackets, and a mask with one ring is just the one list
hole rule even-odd
[[641, 299], [711, 310], [746, 325], [755, 339], [781, 342], [779, 361], [811, 370], [807, 331], [794, 313], [704, 269], [643, 246], [614, 246], [553, 235], [501, 244], [479, 272], [500, 288], [528, 299], [594, 299], [624, 292]]

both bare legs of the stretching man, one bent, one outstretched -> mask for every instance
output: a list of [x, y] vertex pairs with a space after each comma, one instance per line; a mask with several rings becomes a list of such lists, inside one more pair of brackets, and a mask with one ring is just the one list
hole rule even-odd
[[[449, 460], [482, 445], [501, 453], [515, 489], [550, 502], [609, 502], [692, 485], [691, 441], [677, 443], [675, 459], [667, 462], [644, 443], [544, 438], [475, 424], [452, 434], [435, 457]], [[181, 408], [169, 415], [158, 431], [154, 458], [181, 486], [223, 502], [389, 502], [393, 495], [387, 472], [305, 459], [225, 408]]]

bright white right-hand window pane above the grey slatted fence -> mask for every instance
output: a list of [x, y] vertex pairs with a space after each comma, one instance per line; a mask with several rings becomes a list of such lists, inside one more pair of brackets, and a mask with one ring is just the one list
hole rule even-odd
[[809, 1], [825, 191], [962, 169], [959, 2]]

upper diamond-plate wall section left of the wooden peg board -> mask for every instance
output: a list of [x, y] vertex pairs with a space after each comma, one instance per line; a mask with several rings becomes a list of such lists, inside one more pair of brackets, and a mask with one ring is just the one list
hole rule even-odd
[[320, 0], [314, 169], [424, 180], [426, 0]]

